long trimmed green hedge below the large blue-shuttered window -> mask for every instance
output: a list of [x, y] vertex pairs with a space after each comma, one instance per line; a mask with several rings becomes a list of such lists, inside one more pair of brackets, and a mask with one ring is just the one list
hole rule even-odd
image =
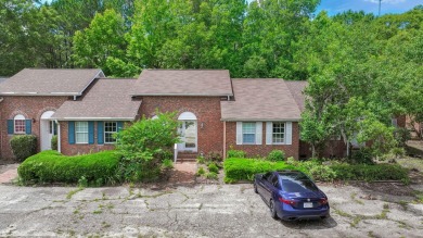
[[116, 179], [119, 161], [113, 150], [76, 156], [48, 150], [26, 159], [17, 173], [24, 183], [77, 183], [84, 176], [88, 181], [106, 184]]

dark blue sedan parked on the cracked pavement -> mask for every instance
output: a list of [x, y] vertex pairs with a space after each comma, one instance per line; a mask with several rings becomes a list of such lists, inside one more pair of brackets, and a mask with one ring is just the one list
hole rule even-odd
[[254, 191], [269, 205], [273, 218], [294, 221], [329, 217], [328, 197], [302, 172], [257, 174]]

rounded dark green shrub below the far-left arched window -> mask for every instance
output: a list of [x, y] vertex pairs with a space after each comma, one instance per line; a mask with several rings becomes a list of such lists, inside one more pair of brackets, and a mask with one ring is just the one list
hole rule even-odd
[[37, 153], [37, 137], [34, 135], [14, 136], [10, 145], [17, 161], [24, 161]]

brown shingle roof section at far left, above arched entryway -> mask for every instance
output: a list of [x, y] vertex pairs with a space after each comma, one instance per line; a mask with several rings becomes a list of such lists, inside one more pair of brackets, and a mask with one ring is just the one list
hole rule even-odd
[[81, 96], [101, 70], [25, 68], [0, 84], [3, 96]]

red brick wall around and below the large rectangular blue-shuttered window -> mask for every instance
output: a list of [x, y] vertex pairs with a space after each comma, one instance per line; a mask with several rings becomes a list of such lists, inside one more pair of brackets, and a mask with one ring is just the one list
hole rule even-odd
[[66, 155], [75, 155], [75, 154], [85, 154], [85, 153], [94, 153], [102, 150], [112, 150], [115, 148], [114, 145], [105, 143], [98, 145], [97, 143], [97, 122], [94, 122], [94, 143], [93, 145], [80, 145], [74, 143], [69, 145], [68, 141], [68, 130], [67, 130], [68, 122], [60, 122], [61, 124], [61, 152]]

